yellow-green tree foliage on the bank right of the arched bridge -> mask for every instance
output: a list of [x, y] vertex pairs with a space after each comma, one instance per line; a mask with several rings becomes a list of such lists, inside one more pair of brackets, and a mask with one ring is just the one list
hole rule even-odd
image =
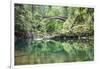
[[63, 23], [62, 33], [66, 35], [76, 34], [81, 35], [82, 33], [93, 32], [93, 8], [67, 8], [69, 16]]

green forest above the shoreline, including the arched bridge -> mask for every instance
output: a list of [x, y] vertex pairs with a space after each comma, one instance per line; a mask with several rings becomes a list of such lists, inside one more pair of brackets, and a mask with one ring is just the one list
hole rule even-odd
[[15, 4], [15, 32], [91, 36], [93, 13], [93, 8]]

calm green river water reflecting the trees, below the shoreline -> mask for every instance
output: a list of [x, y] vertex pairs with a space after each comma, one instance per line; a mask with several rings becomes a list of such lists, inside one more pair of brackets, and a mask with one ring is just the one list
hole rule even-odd
[[19, 39], [15, 42], [15, 65], [91, 61], [93, 40]]

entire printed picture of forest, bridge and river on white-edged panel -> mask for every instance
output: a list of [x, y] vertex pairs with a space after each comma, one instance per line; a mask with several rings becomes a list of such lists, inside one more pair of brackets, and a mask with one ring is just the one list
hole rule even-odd
[[[15, 4], [14, 11], [16, 65], [93, 60], [94, 8]], [[26, 53], [35, 56], [21, 62]]]

